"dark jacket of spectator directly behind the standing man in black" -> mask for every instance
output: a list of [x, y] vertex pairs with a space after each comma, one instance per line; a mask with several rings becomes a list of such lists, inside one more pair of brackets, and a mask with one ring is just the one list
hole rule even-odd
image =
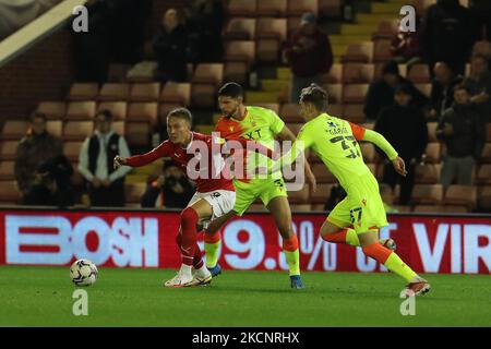
[[[424, 107], [428, 103], [424, 96], [408, 80], [399, 76], [399, 84], [406, 85], [410, 89], [411, 105], [418, 108]], [[364, 115], [369, 120], [376, 120], [381, 110], [394, 104], [394, 88], [390, 86], [383, 79], [379, 79], [370, 84], [364, 101]]]

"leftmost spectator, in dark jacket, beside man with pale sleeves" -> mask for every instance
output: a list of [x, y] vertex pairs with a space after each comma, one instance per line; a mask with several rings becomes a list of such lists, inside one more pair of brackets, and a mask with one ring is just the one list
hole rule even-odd
[[15, 153], [15, 180], [22, 196], [39, 182], [39, 167], [62, 154], [61, 141], [46, 131], [46, 116], [35, 111]]

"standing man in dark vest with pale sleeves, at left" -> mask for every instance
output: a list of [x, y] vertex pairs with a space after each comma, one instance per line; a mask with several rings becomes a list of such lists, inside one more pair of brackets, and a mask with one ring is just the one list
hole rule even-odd
[[127, 141], [111, 130], [112, 116], [101, 110], [95, 116], [94, 134], [85, 140], [79, 156], [79, 171], [88, 183], [92, 206], [124, 206], [124, 177], [131, 170], [115, 170], [112, 159], [118, 154], [130, 156]]

